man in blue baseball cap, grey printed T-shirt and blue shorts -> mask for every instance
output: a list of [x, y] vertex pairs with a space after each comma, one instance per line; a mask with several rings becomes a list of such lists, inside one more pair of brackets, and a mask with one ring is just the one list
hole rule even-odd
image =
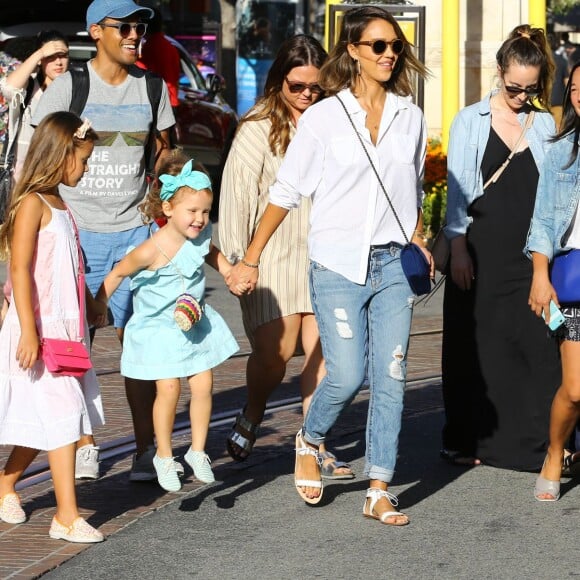
[[[161, 78], [151, 79], [150, 73], [135, 66], [147, 20], [152, 16], [151, 9], [132, 0], [94, 0], [87, 9], [87, 31], [95, 41], [97, 54], [87, 63], [88, 95], [77, 112], [91, 121], [100, 139], [84, 178], [77, 187], [63, 186], [60, 194], [78, 224], [86, 282], [93, 295], [127, 250], [149, 236], [139, 212], [147, 193], [147, 145], [154, 144], [158, 165], [169, 150], [170, 131], [175, 124], [165, 83]], [[40, 99], [33, 125], [49, 113], [70, 110], [74, 102], [72, 76], [65, 73], [59, 78], [61, 82], [51, 83], [52, 90], [45, 91]], [[155, 100], [150, 99], [152, 85], [158, 89]], [[129, 284], [115, 292], [109, 307], [122, 343], [133, 311]], [[126, 378], [125, 391], [137, 446], [131, 480], [156, 479], [152, 463], [155, 383]], [[94, 441], [79, 448], [77, 477], [98, 477], [98, 451]]]

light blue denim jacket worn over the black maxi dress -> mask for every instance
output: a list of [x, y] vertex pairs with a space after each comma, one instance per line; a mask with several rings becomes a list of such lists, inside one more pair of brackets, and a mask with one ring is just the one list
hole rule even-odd
[[[445, 235], [449, 239], [465, 235], [471, 217], [469, 206], [483, 195], [481, 162], [491, 130], [489, 93], [483, 100], [462, 109], [451, 124], [447, 152], [447, 215]], [[525, 124], [526, 113], [518, 114], [520, 125]], [[552, 115], [536, 111], [534, 122], [526, 139], [539, 168], [544, 160], [548, 139], [556, 132]]]

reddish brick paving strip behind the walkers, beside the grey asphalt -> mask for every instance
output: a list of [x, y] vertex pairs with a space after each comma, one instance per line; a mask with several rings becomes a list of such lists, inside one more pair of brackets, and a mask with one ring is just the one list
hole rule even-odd
[[[208, 296], [211, 303], [226, 318], [241, 347], [241, 355], [234, 356], [215, 370], [214, 413], [239, 409], [245, 397], [244, 353], [249, 350], [239, 319], [237, 301], [221, 286], [219, 277], [208, 272]], [[419, 306], [414, 321], [415, 332], [437, 331], [441, 319], [436, 297], [428, 308]], [[420, 379], [439, 374], [440, 335], [426, 334], [412, 340], [409, 355], [409, 378]], [[107, 328], [97, 333], [93, 345], [94, 365], [98, 371], [107, 424], [95, 433], [101, 445], [117, 439], [132, 436], [132, 425], [126, 403], [123, 379], [118, 373], [120, 348], [113, 329]], [[295, 357], [288, 367], [285, 382], [276, 392], [276, 398], [286, 399], [299, 392], [296, 377], [300, 372], [302, 357]], [[427, 398], [419, 403], [426, 408], [438, 408], [440, 395], [437, 384], [423, 389]], [[185, 389], [184, 389], [185, 391]], [[364, 404], [367, 393], [357, 399], [360, 402], [358, 420], [337, 428], [334, 437], [346, 436], [364, 429]], [[188, 395], [180, 398], [177, 420], [187, 420]], [[232, 462], [225, 452], [225, 437], [231, 425], [216, 427], [210, 431], [208, 453], [212, 457], [217, 477], [226, 482], [236, 477], [240, 471], [252, 470], [287, 453], [292, 449], [293, 437], [299, 428], [299, 409], [289, 409], [268, 415], [260, 430], [259, 444], [251, 459], [243, 465]], [[188, 447], [186, 436], [174, 440], [175, 452], [183, 455]], [[4, 464], [9, 449], [0, 447], [0, 466]], [[35, 465], [46, 462], [46, 454], [40, 454]], [[81, 514], [99, 527], [101, 531], [114, 537], [130, 524], [173, 503], [177, 497], [196, 492], [203, 485], [193, 479], [186, 466], [186, 483], [179, 494], [163, 492], [156, 484], [130, 483], [128, 473], [131, 453], [105, 460], [101, 464], [103, 476], [96, 482], [85, 481], [77, 485]], [[90, 546], [74, 545], [51, 540], [48, 537], [50, 520], [54, 514], [54, 493], [51, 481], [35, 484], [20, 491], [23, 507], [29, 520], [22, 525], [11, 526], [0, 522], [0, 578], [34, 578], [61, 565]], [[25, 549], [23, 549], [25, 547]], [[89, 577], [89, 576], [78, 576]], [[162, 577], [162, 576], [161, 576]]]

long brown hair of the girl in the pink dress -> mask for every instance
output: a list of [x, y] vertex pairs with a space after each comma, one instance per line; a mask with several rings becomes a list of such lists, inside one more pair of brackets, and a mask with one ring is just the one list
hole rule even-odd
[[60, 111], [47, 115], [32, 135], [30, 147], [16, 186], [12, 190], [10, 207], [0, 227], [0, 258], [10, 256], [14, 220], [24, 198], [30, 193], [54, 193], [63, 182], [67, 164], [75, 149], [87, 141], [93, 143], [98, 135], [88, 129], [83, 139], [75, 136], [83, 124], [74, 113]]

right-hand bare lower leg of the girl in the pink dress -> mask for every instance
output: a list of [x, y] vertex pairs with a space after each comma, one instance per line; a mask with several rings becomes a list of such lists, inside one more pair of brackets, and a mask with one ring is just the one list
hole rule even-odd
[[71, 443], [48, 452], [48, 463], [56, 496], [56, 519], [70, 526], [79, 517], [75, 492], [75, 448]]

